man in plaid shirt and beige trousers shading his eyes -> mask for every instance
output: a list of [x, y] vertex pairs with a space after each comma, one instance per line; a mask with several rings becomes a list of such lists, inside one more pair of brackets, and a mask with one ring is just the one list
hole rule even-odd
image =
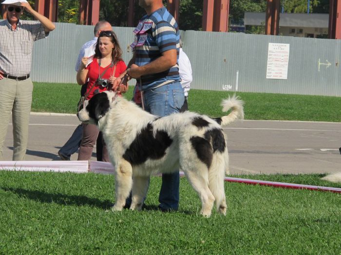
[[[6, 4], [7, 19], [0, 22], [0, 160], [9, 118], [13, 122], [13, 160], [24, 160], [28, 140], [33, 84], [30, 78], [33, 42], [45, 38], [55, 25], [27, 1]], [[20, 20], [23, 11], [40, 22]]]

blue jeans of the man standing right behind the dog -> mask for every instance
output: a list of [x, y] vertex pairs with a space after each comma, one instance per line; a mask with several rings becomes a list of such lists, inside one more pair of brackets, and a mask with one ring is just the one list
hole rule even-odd
[[[180, 82], [144, 91], [145, 110], [153, 115], [164, 117], [179, 112], [184, 104], [184, 90]], [[162, 174], [159, 207], [163, 210], [177, 210], [179, 207], [179, 171]]]

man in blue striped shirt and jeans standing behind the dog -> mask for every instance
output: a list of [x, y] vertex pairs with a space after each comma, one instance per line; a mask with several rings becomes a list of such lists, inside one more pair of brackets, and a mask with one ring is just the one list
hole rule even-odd
[[[147, 15], [133, 31], [135, 40], [131, 47], [134, 55], [127, 73], [137, 80], [135, 90], [143, 91], [145, 110], [163, 117], [179, 112], [185, 100], [178, 67], [180, 33], [162, 0], [139, 0], [139, 5]], [[113, 87], [116, 88], [120, 81], [116, 79]], [[162, 211], [178, 209], [179, 172], [162, 175], [159, 203], [158, 208]]]

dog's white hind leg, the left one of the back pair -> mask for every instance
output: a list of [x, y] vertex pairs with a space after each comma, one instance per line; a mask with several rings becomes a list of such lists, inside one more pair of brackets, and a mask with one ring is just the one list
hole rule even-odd
[[195, 170], [184, 170], [184, 172], [189, 183], [198, 192], [200, 197], [202, 204], [200, 213], [205, 217], [209, 217], [212, 212], [214, 196], [208, 188], [208, 169], [200, 165], [196, 165], [195, 167]]

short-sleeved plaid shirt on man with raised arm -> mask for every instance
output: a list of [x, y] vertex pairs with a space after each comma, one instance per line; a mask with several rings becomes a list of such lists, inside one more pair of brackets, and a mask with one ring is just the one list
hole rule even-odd
[[0, 21], [0, 70], [13, 76], [29, 74], [33, 42], [42, 38], [45, 31], [40, 22], [19, 20], [13, 31], [7, 19]]

